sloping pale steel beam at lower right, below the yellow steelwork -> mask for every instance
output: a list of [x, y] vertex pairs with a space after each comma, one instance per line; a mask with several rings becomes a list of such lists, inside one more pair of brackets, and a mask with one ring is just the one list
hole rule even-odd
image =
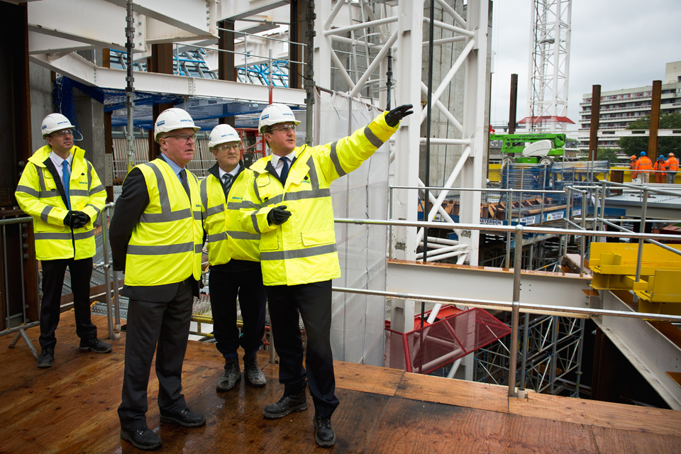
[[[602, 308], [635, 312], [612, 292], [602, 292]], [[681, 387], [666, 372], [681, 371], [681, 348], [647, 321], [626, 317], [592, 319], [619, 351], [674, 410], [681, 410]]]

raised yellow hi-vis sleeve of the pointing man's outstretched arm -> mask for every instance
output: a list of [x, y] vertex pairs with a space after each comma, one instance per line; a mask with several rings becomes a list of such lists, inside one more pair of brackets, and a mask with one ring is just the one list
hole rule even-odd
[[314, 154], [322, 158], [317, 162], [321, 164], [321, 171], [328, 182], [360, 167], [397, 131], [399, 123], [391, 128], [385, 123], [385, 114], [387, 111], [348, 137], [315, 147]]

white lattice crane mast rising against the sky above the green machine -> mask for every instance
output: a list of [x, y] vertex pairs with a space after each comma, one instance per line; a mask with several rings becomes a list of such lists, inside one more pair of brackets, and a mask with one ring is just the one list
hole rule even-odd
[[[566, 116], [572, 0], [531, 2], [527, 116]], [[562, 132], [565, 123], [531, 123], [528, 131]]]

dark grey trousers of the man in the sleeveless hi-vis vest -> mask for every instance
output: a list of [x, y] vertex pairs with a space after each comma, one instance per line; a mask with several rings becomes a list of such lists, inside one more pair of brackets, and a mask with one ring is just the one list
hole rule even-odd
[[123, 399], [118, 406], [118, 418], [125, 431], [147, 426], [147, 387], [154, 350], [158, 407], [166, 413], [187, 408], [182, 395], [182, 362], [192, 319], [192, 282], [187, 279], [179, 284], [177, 294], [170, 301], [131, 299], [128, 304]]

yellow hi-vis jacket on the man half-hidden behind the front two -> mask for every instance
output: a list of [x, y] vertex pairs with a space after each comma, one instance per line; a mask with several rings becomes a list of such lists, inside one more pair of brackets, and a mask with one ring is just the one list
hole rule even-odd
[[250, 170], [244, 169], [239, 162], [240, 170], [229, 189], [226, 201], [225, 192], [219, 179], [218, 165], [209, 170], [208, 177], [201, 180], [201, 216], [204, 231], [208, 234], [209, 265], [222, 265], [231, 259], [260, 262], [260, 233], [243, 231], [239, 222], [239, 213], [246, 190], [244, 181], [253, 182], [248, 177]]

